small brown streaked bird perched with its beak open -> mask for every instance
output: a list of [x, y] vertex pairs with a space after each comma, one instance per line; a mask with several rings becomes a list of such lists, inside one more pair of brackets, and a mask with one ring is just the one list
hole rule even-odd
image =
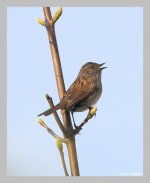
[[[102, 67], [104, 64], [94, 62], [84, 64], [76, 80], [65, 92], [60, 103], [38, 116], [48, 116], [58, 109], [64, 109], [70, 111], [73, 117], [73, 112], [82, 112], [90, 109], [97, 103], [102, 94], [101, 73], [103, 69], [107, 68]], [[74, 126], [77, 128], [75, 122]]]

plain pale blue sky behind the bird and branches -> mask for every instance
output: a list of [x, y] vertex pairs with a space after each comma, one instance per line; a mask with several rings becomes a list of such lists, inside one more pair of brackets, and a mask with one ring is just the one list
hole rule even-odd
[[[55, 140], [37, 122], [48, 108], [45, 93], [55, 103], [59, 98], [47, 32], [36, 17], [43, 18], [42, 8], [7, 9], [7, 169], [15, 176], [60, 176]], [[56, 34], [66, 88], [85, 62], [108, 67], [97, 115], [76, 137], [80, 174], [142, 175], [143, 9], [63, 8]], [[86, 114], [75, 114], [77, 124]], [[61, 135], [52, 115], [43, 120]]]

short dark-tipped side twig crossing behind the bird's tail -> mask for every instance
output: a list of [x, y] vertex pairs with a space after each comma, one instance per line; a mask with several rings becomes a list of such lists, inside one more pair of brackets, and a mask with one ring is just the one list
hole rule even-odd
[[[48, 94], [46, 94], [45, 96], [46, 96], [46, 99], [47, 99], [50, 107], [51, 108], [54, 107], [54, 103], [53, 103], [52, 97], [50, 97]], [[54, 118], [55, 118], [59, 128], [61, 129], [62, 133], [65, 134], [65, 128], [64, 128], [64, 126], [63, 126], [63, 124], [62, 124], [62, 122], [61, 122], [61, 120], [60, 120], [60, 118], [58, 116], [58, 113], [55, 111], [55, 112], [53, 112], [53, 115], [54, 115]]]

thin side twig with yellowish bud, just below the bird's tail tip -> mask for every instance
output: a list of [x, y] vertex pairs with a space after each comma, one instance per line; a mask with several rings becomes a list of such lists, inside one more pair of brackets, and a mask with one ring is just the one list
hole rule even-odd
[[42, 120], [42, 119], [40, 119], [40, 118], [38, 118], [37, 119], [38, 120], [38, 122], [39, 122], [39, 124], [41, 125], [41, 126], [43, 126], [55, 139], [58, 139], [58, 140], [60, 140], [61, 142], [63, 142], [63, 143], [67, 143], [68, 142], [68, 139], [66, 139], [66, 138], [62, 138], [62, 137], [59, 137], [58, 135], [56, 135], [54, 132], [53, 132], [53, 130], [52, 129], [50, 129], [45, 123], [44, 123], [44, 121]]

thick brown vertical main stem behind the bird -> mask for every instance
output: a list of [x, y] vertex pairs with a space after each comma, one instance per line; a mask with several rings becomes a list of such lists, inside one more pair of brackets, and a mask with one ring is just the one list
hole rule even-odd
[[[44, 16], [45, 16], [45, 23], [46, 23], [47, 33], [48, 33], [48, 39], [49, 39], [49, 43], [50, 43], [50, 49], [51, 49], [51, 53], [52, 53], [58, 94], [59, 94], [59, 98], [61, 100], [65, 93], [65, 85], [64, 85], [63, 73], [62, 73], [59, 51], [58, 51], [58, 46], [57, 46], [55, 28], [54, 28], [54, 25], [50, 24], [50, 22], [49, 22], [52, 20], [50, 8], [43, 7], [43, 11], [44, 11]], [[73, 127], [72, 127], [72, 123], [71, 123], [70, 113], [68, 111], [62, 110], [62, 117], [63, 117], [64, 127], [66, 129], [72, 129]], [[79, 176], [78, 159], [77, 159], [77, 152], [76, 152], [76, 145], [75, 145], [74, 137], [73, 138], [70, 137], [70, 142], [67, 144], [67, 149], [68, 149], [68, 155], [69, 155], [72, 175]]]

